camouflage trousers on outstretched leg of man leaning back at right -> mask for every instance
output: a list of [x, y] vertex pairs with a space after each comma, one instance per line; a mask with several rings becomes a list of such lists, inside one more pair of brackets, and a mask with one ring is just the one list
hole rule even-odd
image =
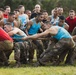
[[49, 48], [47, 48], [47, 50], [45, 52], [43, 52], [41, 54], [39, 63], [42, 65], [46, 65], [46, 62], [49, 61], [50, 59], [52, 59], [52, 57], [55, 57], [55, 56], [57, 57], [57, 55], [61, 55], [63, 52], [65, 52], [65, 54], [67, 54], [67, 52], [70, 52], [70, 55], [71, 55], [71, 51], [73, 52], [73, 50], [72, 50], [73, 47], [74, 47], [74, 41], [72, 39], [63, 38], [63, 39], [59, 40], [55, 44], [55, 46], [52, 47], [52, 50], [50, 50], [50, 47], [49, 47]]

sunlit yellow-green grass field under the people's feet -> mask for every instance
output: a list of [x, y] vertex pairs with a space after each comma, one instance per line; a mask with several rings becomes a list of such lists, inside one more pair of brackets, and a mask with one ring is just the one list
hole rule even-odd
[[15, 68], [13, 54], [10, 57], [10, 66], [1, 67], [0, 75], [76, 75], [76, 66], [45, 66], [33, 67], [31, 65], [22, 65]]

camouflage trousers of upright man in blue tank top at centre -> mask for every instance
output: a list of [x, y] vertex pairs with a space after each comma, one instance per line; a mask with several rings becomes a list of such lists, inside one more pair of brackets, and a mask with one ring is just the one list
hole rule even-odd
[[43, 43], [41, 40], [32, 40], [32, 48], [29, 49], [29, 61], [33, 60], [34, 50], [36, 49], [37, 60], [40, 58], [40, 55], [43, 53]]

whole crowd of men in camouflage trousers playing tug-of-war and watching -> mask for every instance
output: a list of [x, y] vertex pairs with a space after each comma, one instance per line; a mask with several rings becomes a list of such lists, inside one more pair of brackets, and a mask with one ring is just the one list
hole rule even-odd
[[[64, 17], [62, 7], [42, 10], [39, 4], [31, 10], [19, 5], [13, 12], [10, 6], [0, 8], [0, 65], [9, 66], [9, 57], [14, 51], [16, 67], [33, 63], [44, 66], [49, 62], [73, 65], [76, 58], [76, 15], [69, 10]], [[66, 60], [64, 60], [66, 57]]]

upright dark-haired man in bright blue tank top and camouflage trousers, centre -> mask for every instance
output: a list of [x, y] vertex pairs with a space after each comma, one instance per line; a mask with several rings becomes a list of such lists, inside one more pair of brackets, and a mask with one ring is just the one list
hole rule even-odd
[[[39, 13], [37, 14], [37, 17], [33, 20], [30, 20], [28, 22], [28, 25], [26, 27], [26, 34], [29, 36], [29, 35], [34, 35], [34, 34], [37, 34], [38, 31], [42, 32], [42, 29], [41, 29], [41, 26], [43, 25], [43, 14], [42, 13]], [[40, 57], [40, 54], [43, 52], [43, 45], [41, 43], [40, 40], [33, 40], [32, 41], [36, 47], [37, 47], [37, 59]], [[33, 60], [33, 56], [34, 56], [34, 50], [30, 50], [29, 51], [29, 61], [32, 61]]]

